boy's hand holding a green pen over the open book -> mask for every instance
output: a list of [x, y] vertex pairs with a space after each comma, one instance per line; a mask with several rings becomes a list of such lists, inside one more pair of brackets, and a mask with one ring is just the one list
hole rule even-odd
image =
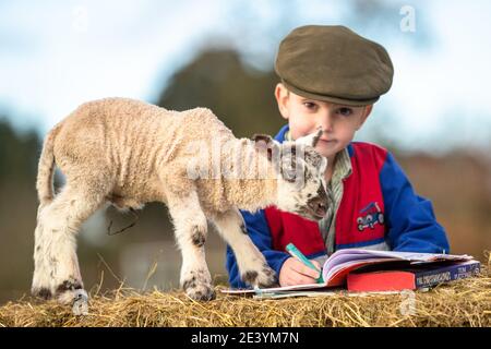
[[[321, 265], [316, 261], [310, 261], [315, 267], [321, 270]], [[304, 284], [315, 284], [315, 279], [321, 276], [321, 273], [314, 270], [294, 257], [285, 261], [279, 270], [279, 286], [294, 286]]]

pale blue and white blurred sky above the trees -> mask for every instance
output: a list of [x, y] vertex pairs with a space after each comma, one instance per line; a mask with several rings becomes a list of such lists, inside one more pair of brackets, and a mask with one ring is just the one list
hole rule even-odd
[[489, 149], [491, 2], [387, 3], [378, 15], [337, 0], [0, 0], [0, 115], [44, 134], [86, 100], [155, 101], [209, 43], [266, 70], [295, 26], [346, 24], [381, 43], [395, 67], [359, 139], [376, 133], [407, 151]]

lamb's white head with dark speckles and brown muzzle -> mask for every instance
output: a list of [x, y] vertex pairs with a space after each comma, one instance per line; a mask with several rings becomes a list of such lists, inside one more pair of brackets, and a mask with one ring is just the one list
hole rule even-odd
[[296, 142], [278, 143], [268, 135], [254, 135], [259, 149], [266, 152], [277, 178], [275, 205], [286, 212], [311, 220], [320, 220], [332, 205], [324, 172], [327, 159], [315, 149], [322, 131], [298, 139]]

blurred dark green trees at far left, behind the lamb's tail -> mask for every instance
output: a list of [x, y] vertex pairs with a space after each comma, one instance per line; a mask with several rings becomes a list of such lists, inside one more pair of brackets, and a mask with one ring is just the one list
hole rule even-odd
[[27, 290], [36, 220], [40, 140], [0, 118], [0, 302]]

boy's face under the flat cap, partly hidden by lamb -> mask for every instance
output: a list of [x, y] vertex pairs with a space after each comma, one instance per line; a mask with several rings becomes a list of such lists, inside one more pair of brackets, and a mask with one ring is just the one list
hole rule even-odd
[[315, 149], [331, 164], [335, 155], [352, 141], [373, 106], [350, 107], [309, 99], [289, 92], [283, 84], [276, 86], [275, 96], [294, 140], [322, 128]]

